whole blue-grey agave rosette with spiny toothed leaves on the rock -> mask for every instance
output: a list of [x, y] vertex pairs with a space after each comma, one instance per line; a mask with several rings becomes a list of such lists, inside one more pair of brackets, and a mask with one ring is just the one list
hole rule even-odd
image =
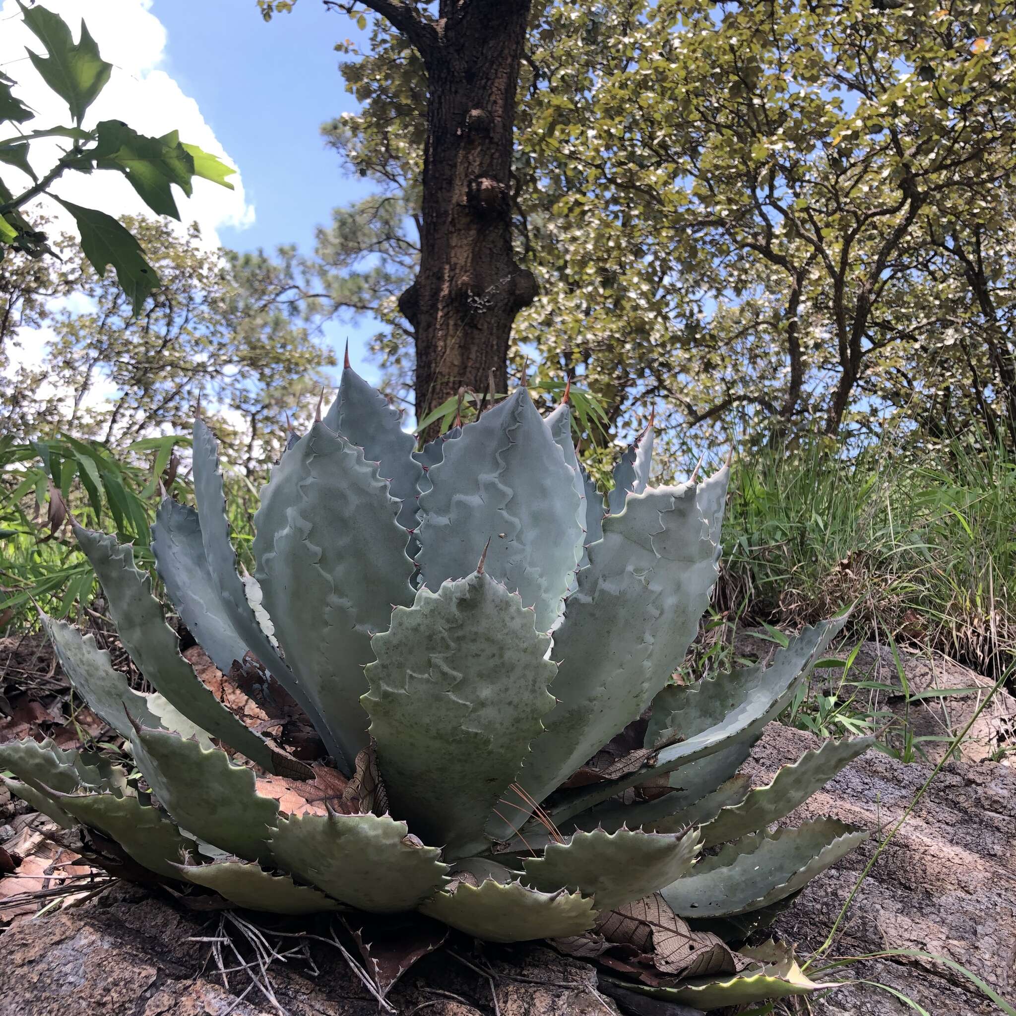
[[768, 666], [676, 683], [717, 574], [727, 468], [649, 488], [652, 441], [650, 425], [605, 499], [576, 458], [567, 398], [544, 419], [523, 386], [416, 451], [399, 414], [346, 368], [327, 416], [273, 468], [255, 573], [241, 576], [217, 446], [198, 419], [197, 510], [163, 501], [156, 569], [216, 666], [253, 671], [262, 693], [280, 686], [309, 717], [335, 770], [327, 810], [259, 792], [259, 774], [320, 785], [322, 767], [225, 708], [181, 655], [131, 548], [79, 527], [154, 691], [133, 690], [92, 636], [44, 621], [143, 783], [108, 757], [26, 741], [0, 747], [8, 786], [126, 861], [238, 906], [417, 909], [481, 939], [552, 938], [592, 955], [651, 904], [711, 957], [670, 968], [705, 978], [657, 978], [668, 997], [808, 991], [775, 945], [734, 954], [695, 928], [761, 924], [864, 838], [829, 819], [770, 827], [867, 740], [807, 752], [757, 789], [738, 775], [842, 620]]

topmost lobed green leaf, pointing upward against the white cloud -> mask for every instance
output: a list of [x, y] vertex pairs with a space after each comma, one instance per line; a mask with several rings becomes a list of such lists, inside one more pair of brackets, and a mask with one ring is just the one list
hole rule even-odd
[[75, 44], [70, 28], [58, 14], [41, 7], [25, 7], [18, 0], [24, 23], [46, 47], [48, 57], [28, 51], [43, 80], [67, 104], [77, 124], [106, 86], [113, 70], [99, 55], [99, 47], [81, 21], [81, 37]]

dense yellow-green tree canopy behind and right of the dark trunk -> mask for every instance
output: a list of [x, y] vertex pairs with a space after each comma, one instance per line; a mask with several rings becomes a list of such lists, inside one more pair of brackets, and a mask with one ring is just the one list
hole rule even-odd
[[[511, 198], [541, 292], [516, 365], [692, 443], [887, 414], [1014, 431], [1013, 33], [997, 0], [536, 5]], [[377, 313], [408, 391], [425, 68], [381, 19], [339, 49], [363, 111], [326, 134], [380, 196], [336, 210], [316, 267]]]

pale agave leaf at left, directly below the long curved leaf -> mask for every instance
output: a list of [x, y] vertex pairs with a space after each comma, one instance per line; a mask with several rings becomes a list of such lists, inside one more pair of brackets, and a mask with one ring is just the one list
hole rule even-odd
[[211, 747], [208, 735], [168, 699], [160, 696], [154, 702], [157, 712], [154, 711], [151, 708], [152, 696], [142, 695], [131, 688], [127, 678], [113, 669], [109, 652], [96, 645], [93, 635], [81, 635], [65, 621], [54, 621], [45, 615], [43, 623], [74, 691], [100, 719], [109, 723], [121, 737], [130, 740], [129, 714], [142, 726], [176, 731], [184, 738], [196, 737], [205, 748]]

